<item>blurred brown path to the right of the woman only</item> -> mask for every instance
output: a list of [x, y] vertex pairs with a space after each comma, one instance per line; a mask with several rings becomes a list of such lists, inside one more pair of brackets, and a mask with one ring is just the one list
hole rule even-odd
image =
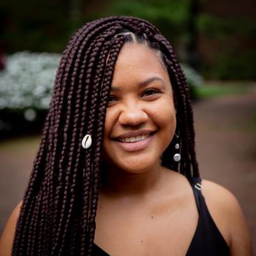
[[194, 111], [201, 176], [236, 196], [248, 221], [255, 252], [256, 92], [198, 102]]

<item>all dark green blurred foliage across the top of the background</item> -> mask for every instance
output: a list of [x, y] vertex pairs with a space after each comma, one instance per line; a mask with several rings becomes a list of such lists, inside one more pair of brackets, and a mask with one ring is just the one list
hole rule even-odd
[[[6, 53], [62, 52], [68, 39], [89, 20], [109, 15], [132, 15], [152, 22], [173, 45], [180, 61], [188, 61], [189, 44], [200, 35], [211, 61], [200, 72], [211, 79], [256, 79], [256, 22], [244, 17], [217, 17], [201, 10], [204, 0], [3, 0], [0, 2], [0, 43]], [[191, 31], [191, 22], [196, 33]], [[245, 46], [244, 46], [245, 45]], [[194, 52], [192, 51], [192, 54]], [[204, 56], [202, 60], [204, 60]]]

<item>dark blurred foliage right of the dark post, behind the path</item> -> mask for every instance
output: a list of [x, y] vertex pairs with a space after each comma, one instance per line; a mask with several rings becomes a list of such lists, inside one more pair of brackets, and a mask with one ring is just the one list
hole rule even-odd
[[197, 26], [206, 40], [216, 44], [211, 63], [201, 72], [214, 79], [256, 79], [256, 22], [250, 19], [218, 18], [202, 13]]

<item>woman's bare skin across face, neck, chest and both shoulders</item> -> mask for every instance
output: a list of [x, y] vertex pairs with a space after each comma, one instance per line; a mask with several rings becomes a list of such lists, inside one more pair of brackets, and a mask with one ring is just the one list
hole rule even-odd
[[[152, 76], [163, 82], [157, 79], [142, 88], [140, 83]], [[111, 256], [186, 255], [198, 223], [195, 197], [186, 177], [163, 168], [159, 161], [176, 125], [168, 73], [156, 52], [145, 45], [125, 44], [113, 87], [119, 90], [111, 91], [106, 115], [102, 153], [107, 168], [99, 193], [95, 243]], [[159, 92], [147, 91], [152, 89]], [[143, 150], [126, 152], [113, 140], [141, 129], [156, 131]], [[250, 234], [234, 195], [209, 180], [202, 181], [202, 193], [231, 255], [251, 256]], [[11, 255], [19, 208], [20, 204], [6, 223], [0, 255]]]

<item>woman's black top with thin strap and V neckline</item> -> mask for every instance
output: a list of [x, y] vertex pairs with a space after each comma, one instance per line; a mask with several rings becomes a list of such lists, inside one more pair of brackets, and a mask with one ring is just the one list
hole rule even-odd
[[[186, 256], [229, 256], [230, 250], [228, 244], [212, 220], [211, 214], [205, 204], [205, 199], [201, 192], [201, 179], [199, 177], [193, 177], [189, 180], [189, 183], [195, 195], [199, 219]], [[92, 255], [110, 256], [97, 246], [97, 244], [93, 244]]]

